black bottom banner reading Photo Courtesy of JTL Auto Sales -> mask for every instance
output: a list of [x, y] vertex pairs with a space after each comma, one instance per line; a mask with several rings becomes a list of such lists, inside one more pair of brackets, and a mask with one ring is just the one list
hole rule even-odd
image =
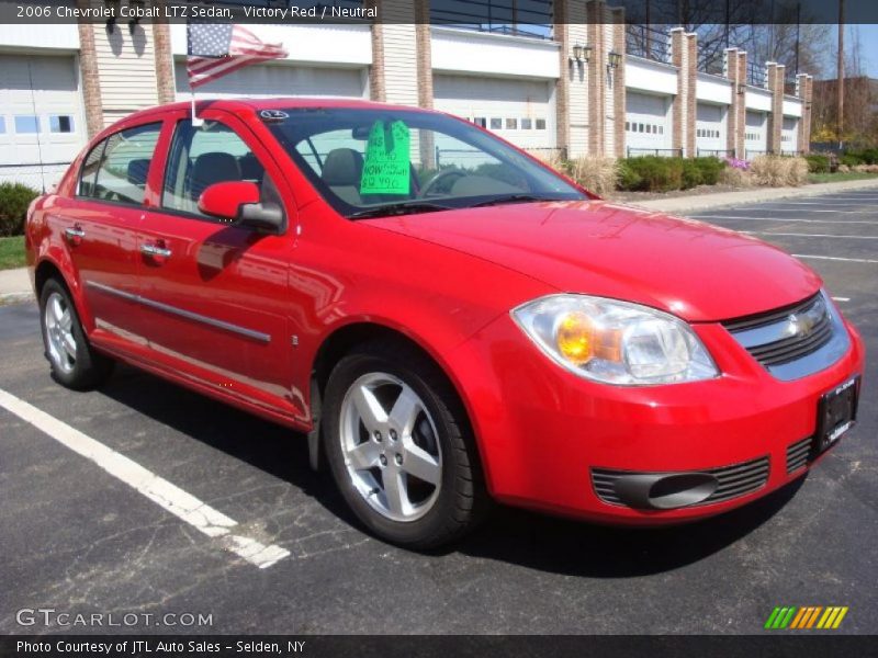
[[439, 636], [439, 635], [285, 635], [285, 636], [144, 636], [42, 635], [0, 637], [0, 657], [78, 658], [110, 656], [229, 658], [650, 658], [746, 656], [747, 658], [817, 658], [865, 656], [875, 636], [833, 632], [768, 632], [736, 636]]

